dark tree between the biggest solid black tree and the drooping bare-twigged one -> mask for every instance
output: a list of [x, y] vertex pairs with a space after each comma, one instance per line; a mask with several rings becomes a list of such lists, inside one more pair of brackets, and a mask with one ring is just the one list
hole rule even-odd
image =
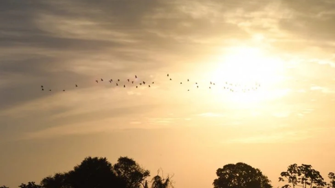
[[126, 188], [139, 188], [145, 186], [145, 179], [150, 176], [150, 171], [144, 170], [134, 159], [120, 157], [114, 164], [116, 175], [126, 182]]

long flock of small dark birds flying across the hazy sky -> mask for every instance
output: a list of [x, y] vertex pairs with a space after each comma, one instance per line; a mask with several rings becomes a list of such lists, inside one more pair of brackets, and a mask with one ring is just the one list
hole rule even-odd
[[[168, 77], [169, 80], [172, 80], [172, 78], [171, 78], [171, 76], [170, 76], [169, 74], [167, 74], [166, 76]], [[137, 75], [135, 75], [134, 78], [137, 79], [137, 78], [138, 78]], [[135, 83], [135, 84], [134, 84], [134, 80], [130, 80], [129, 78], [127, 78], [126, 80], [127, 80], [127, 82], [128, 82], [129, 84], [131, 83], [131, 85], [136, 86], [136, 88], [138, 88], [138, 87], [140, 87], [140, 86], [141, 86], [141, 87], [144, 87], [144, 86], [146, 86], [145, 84], [147, 83], [146, 81], [141, 81], [141, 82], [139, 82], [139, 83]], [[100, 78], [99, 80], [95, 80], [96, 83], [99, 83], [99, 82], [102, 82], [102, 81], [104, 81], [103, 78]], [[110, 80], [108, 80], [108, 81], [110, 82], [110, 84], [115, 84], [116, 86], [120, 86], [120, 87], [126, 87], [126, 84], [121, 84], [122, 82], [120, 82], [120, 81], [121, 81], [120, 79], [117, 79], [117, 80], [110, 79]], [[190, 79], [187, 79], [187, 80], [185, 80], [185, 81], [186, 81], [186, 82], [190, 82]], [[195, 83], [195, 85], [196, 85], [196, 88], [199, 88], [199, 84], [198, 84], [198, 82], [194, 82], [194, 83]], [[147, 83], [147, 85], [148, 85], [147, 87], [151, 87], [150, 84], [154, 84], [154, 81], [152, 81], [152, 82], [150, 82], [150, 83]], [[180, 84], [183, 84], [183, 81], [181, 81]], [[212, 87], [215, 86], [215, 83], [212, 82], [212, 81], [209, 81], [208, 84], [209, 84], [209, 85], [207, 86], [208, 89], [211, 89]], [[123, 85], [123, 86], [122, 86], [122, 85]], [[74, 84], [74, 86], [75, 86], [75, 87], [78, 87], [77, 84]], [[127, 86], [128, 86], [128, 84], [127, 84]], [[244, 86], [245, 86], [245, 85], [244, 85]], [[255, 91], [255, 90], [257, 90], [260, 86], [261, 86], [261, 84], [256, 82], [253, 86], [251, 86], [251, 87], [248, 88], [248, 87], [243, 87], [243, 85], [238, 84], [238, 83], [230, 83], [230, 82], [227, 82], [227, 81], [226, 81], [226, 82], [223, 84], [222, 89], [228, 90], [228, 91], [230, 91], [230, 92], [239, 92], [239, 91], [242, 91], [242, 92], [250, 92], [250, 91]], [[241, 87], [242, 87], [242, 89], [237, 89], [237, 88], [241, 88]], [[41, 89], [42, 89], [42, 91], [44, 91], [44, 90], [45, 90], [45, 87], [44, 87], [43, 85], [41, 85]], [[50, 88], [48, 88], [48, 90], [49, 90], [50, 92], [52, 91], [52, 89], [50, 89]], [[63, 91], [65, 91], [65, 89], [63, 89]], [[187, 91], [190, 91], [190, 89], [187, 89]]]

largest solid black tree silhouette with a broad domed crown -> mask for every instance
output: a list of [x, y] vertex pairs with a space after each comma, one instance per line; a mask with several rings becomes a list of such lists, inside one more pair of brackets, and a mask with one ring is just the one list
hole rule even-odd
[[106, 158], [86, 157], [65, 176], [65, 182], [72, 188], [125, 188], [125, 182], [118, 178]]

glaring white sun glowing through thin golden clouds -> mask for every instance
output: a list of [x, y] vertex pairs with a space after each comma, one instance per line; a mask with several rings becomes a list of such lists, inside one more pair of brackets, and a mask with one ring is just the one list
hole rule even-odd
[[266, 55], [260, 48], [231, 47], [216, 59], [211, 78], [220, 83], [231, 83], [228, 85], [233, 89], [233, 92], [229, 91], [230, 100], [259, 102], [270, 97], [268, 86], [280, 81], [282, 66], [280, 59]]

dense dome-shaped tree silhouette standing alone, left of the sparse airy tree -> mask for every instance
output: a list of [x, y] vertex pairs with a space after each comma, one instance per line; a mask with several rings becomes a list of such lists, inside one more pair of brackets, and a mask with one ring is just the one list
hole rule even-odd
[[270, 180], [259, 169], [245, 163], [227, 164], [216, 170], [214, 188], [272, 188]]

